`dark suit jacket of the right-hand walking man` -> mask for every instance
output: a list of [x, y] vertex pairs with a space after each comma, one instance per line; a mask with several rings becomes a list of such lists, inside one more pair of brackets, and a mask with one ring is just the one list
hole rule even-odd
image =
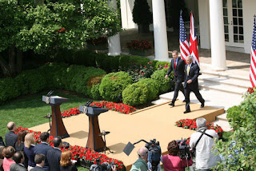
[[[185, 81], [184, 81], [184, 88], [190, 88], [190, 89], [198, 89], [198, 74], [199, 74], [199, 67], [197, 64], [192, 63], [190, 66], [190, 73], [187, 75], [187, 66], [185, 66]], [[187, 84], [186, 82], [188, 80], [192, 80], [190, 84]]]

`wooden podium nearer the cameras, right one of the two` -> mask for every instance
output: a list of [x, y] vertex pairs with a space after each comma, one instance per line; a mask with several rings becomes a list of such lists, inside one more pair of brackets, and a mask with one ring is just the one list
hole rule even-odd
[[89, 117], [89, 133], [86, 148], [94, 149], [97, 152], [104, 150], [105, 142], [103, 141], [102, 136], [99, 136], [101, 130], [98, 125], [98, 115], [108, 110], [109, 109], [103, 109], [96, 106], [79, 105], [79, 111], [86, 113]]

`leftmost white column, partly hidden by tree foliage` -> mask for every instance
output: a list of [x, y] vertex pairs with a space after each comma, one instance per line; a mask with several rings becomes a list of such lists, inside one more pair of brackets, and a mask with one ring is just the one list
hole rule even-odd
[[[112, 0], [108, 2], [110, 7], [113, 7], [117, 9], [117, 1]], [[114, 36], [108, 38], [108, 44], [109, 44], [109, 53], [108, 55], [111, 56], [118, 56], [121, 54], [121, 43], [120, 43], [120, 35], [115, 34]]]

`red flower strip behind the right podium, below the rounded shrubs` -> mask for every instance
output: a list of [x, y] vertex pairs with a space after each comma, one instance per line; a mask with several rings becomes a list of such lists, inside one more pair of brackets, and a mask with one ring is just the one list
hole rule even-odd
[[114, 110], [120, 113], [129, 114], [136, 110], [133, 106], [126, 105], [123, 103], [114, 103], [110, 101], [102, 101], [102, 102], [93, 102], [91, 105], [95, 105], [101, 108]]

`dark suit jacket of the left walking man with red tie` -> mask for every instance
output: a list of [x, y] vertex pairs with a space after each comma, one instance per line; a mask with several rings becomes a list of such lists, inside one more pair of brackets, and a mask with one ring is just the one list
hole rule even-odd
[[166, 75], [169, 75], [171, 71], [174, 71], [174, 80], [175, 82], [178, 80], [180, 82], [184, 81], [184, 68], [186, 65], [186, 62], [182, 58], [178, 58], [178, 62], [176, 64], [176, 70], [174, 66], [175, 60], [172, 59], [170, 62], [170, 68]]

